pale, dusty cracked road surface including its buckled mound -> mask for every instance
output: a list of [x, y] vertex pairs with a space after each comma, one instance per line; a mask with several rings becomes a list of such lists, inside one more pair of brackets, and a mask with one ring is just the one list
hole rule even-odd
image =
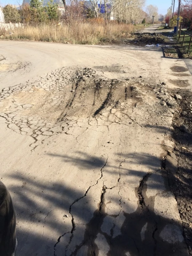
[[127, 45], [1, 41], [0, 54], [17, 256], [189, 255], [167, 178], [185, 62]]

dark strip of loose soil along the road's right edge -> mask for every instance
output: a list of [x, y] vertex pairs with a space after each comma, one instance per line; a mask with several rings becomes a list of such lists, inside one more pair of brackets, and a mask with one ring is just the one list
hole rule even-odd
[[180, 94], [185, 101], [180, 101], [173, 120], [173, 138], [176, 144], [174, 153], [178, 160], [178, 169], [175, 174], [169, 173], [168, 176], [183, 221], [185, 241], [189, 254], [192, 255], [192, 224], [189, 224], [192, 222], [192, 92], [175, 90], [174, 93]]

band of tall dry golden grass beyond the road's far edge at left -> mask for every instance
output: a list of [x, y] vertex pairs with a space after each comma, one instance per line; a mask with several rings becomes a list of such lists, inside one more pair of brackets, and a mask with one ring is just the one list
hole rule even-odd
[[127, 38], [134, 29], [133, 25], [118, 24], [117, 22], [110, 22], [109, 24], [105, 24], [104, 22], [74, 22], [62, 26], [40, 24], [37, 26], [16, 28], [12, 33], [2, 31], [1, 39], [97, 44], [99, 42], [110, 42], [112, 40]]

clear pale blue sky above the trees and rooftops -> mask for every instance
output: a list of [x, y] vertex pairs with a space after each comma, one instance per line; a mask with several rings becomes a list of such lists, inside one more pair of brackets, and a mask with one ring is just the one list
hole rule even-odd
[[[22, 0], [0, 0], [0, 4], [5, 6], [6, 4], [19, 4]], [[146, 6], [149, 4], [157, 5], [159, 14], [165, 15], [167, 9], [171, 6], [171, 0], [146, 0]], [[175, 0], [176, 6], [178, 5], [178, 0]]]

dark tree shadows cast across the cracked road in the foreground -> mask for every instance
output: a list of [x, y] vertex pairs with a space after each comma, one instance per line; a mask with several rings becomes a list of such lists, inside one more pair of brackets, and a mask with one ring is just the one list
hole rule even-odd
[[[79, 152], [76, 158], [67, 155], [52, 156], [62, 157], [63, 161], [75, 164], [79, 169], [84, 168], [87, 171], [95, 169], [99, 172], [100, 168], [105, 165], [105, 161], [101, 158], [86, 155], [82, 152]], [[156, 171], [160, 162], [160, 159], [156, 156], [146, 153], [125, 154], [121, 157], [130, 159], [137, 165], [146, 165], [151, 168], [151, 173]], [[127, 176], [127, 178], [131, 174], [131, 176], [139, 176], [142, 179], [147, 173], [142, 170], [129, 169], [123, 163], [120, 169], [121, 175]], [[113, 175], [115, 172], [119, 172], [119, 168], [108, 164], [106, 169], [103, 169], [103, 175], [105, 175], [105, 172]], [[95, 199], [97, 200], [97, 209], [95, 210], [93, 202], [88, 200], [90, 196], [88, 187], [83, 190], [79, 189], [74, 182], [71, 182], [69, 187], [64, 182], [54, 182], [51, 178], [50, 183], [47, 184], [43, 179], [42, 181], [39, 180], [38, 175], [36, 178], [32, 178], [19, 172], [9, 176], [9, 178], [15, 184], [10, 187], [10, 192], [11, 195], [15, 194], [14, 198], [16, 199], [13, 200], [17, 218], [18, 249], [16, 256], [26, 254], [29, 256], [188, 255], [181, 235], [181, 224], [176, 220], [167, 218], [166, 215], [155, 214], [153, 207], [145, 205], [144, 201], [141, 202], [139, 196], [144, 198], [144, 190], [138, 192], [141, 184], [138, 184], [135, 188], [138, 198], [136, 211], [131, 213], [120, 211], [116, 216], [109, 216], [105, 209], [107, 188], [103, 187], [101, 197]], [[166, 176], [164, 178], [166, 179]], [[18, 186], [21, 181], [22, 185]], [[97, 187], [95, 188], [97, 189]], [[152, 182], [149, 189], [159, 189], [158, 181]], [[82, 200], [82, 198], [87, 198], [87, 203], [75, 207], [75, 203], [79, 199]], [[153, 205], [154, 198], [149, 200]], [[118, 194], [111, 198], [111, 203], [115, 204], [117, 202], [119, 202]], [[127, 201], [121, 203], [130, 204]], [[119, 203], [120, 206], [121, 203]], [[82, 214], [82, 212], [85, 214]], [[66, 214], [68, 218], [64, 217]], [[71, 217], [71, 214], [73, 217]], [[120, 216], [123, 222], [117, 221]], [[85, 224], [77, 225], [75, 223], [77, 219], [80, 223]], [[103, 228], [104, 223], [107, 229]], [[69, 241], [64, 234], [71, 237], [71, 245], [75, 245], [71, 253], [69, 253], [69, 250], [65, 253], [65, 240], [66, 244]], [[68, 249], [70, 249], [70, 246]], [[100, 253], [98, 253], [99, 249]]]

